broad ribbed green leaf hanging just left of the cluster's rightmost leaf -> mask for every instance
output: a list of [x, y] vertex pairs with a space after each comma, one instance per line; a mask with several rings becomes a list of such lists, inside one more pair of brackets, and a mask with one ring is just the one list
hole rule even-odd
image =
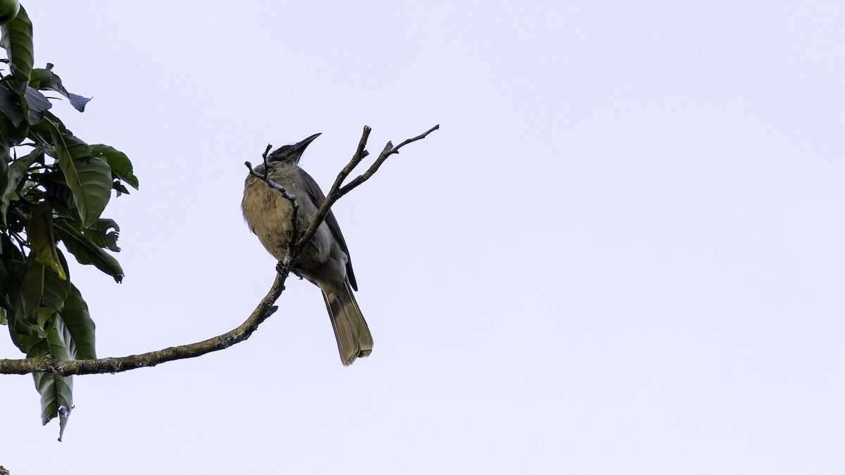
[[112, 168], [106, 159], [91, 156], [90, 146], [73, 135], [54, 129], [52, 139], [59, 167], [74, 192], [79, 219], [87, 227], [100, 218], [112, 196]]

